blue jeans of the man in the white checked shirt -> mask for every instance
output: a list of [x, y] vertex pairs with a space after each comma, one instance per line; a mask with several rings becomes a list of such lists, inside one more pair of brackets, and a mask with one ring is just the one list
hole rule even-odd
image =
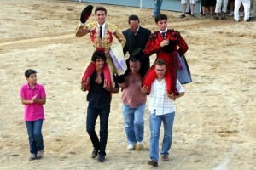
[[162, 150], [160, 154], [169, 155], [169, 150], [172, 145], [172, 125], [174, 121], [175, 112], [165, 115], [156, 116], [155, 113], [150, 114], [150, 159], [159, 161], [159, 137], [161, 122], [164, 124], [164, 139], [162, 143]]

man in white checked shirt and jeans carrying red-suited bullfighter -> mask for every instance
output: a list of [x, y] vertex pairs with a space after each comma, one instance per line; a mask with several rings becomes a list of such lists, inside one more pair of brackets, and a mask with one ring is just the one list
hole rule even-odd
[[[158, 166], [159, 161], [159, 138], [161, 123], [164, 124], [164, 139], [160, 151], [161, 160], [169, 161], [169, 150], [172, 145], [172, 125], [175, 116], [175, 99], [183, 96], [184, 89], [180, 82], [176, 83], [178, 94], [168, 94], [166, 90], [166, 62], [162, 59], [155, 61], [155, 73], [157, 78], [151, 86], [149, 94], [148, 109], [150, 111], [150, 161], [149, 165]], [[146, 93], [148, 87], [144, 86], [143, 93]]]

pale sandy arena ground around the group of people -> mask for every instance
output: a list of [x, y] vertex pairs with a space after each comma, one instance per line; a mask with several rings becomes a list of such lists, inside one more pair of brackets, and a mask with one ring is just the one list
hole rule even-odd
[[[88, 4], [1, 0], [0, 169], [154, 169], [147, 164], [148, 109], [147, 148], [126, 150], [121, 93], [113, 94], [106, 161], [90, 158], [87, 93], [80, 90], [79, 77], [93, 48], [89, 36], [74, 36], [80, 12]], [[128, 27], [130, 14], [140, 17], [141, 26], [157, 29], [152, 9], [104, 6], [108, 21], [120, 30]], [[176, 101], [171, 161], [160, 161], [157, 169], [256, 169], [256, 22], [203, 20], [199, 15], [182, 20], [180, 13], [162, 13], [169, 17], [168, 27], [180, 31], [189, 44], [186, 57], [193, 82], [184, 85], [186, 94]], [[47, 92], [45, 153], [40, 161], [28, 161], [20, 103], [28, 68], [38, 71], [38, 82]], [[161, 138], [162, 134], [160, 143]]]

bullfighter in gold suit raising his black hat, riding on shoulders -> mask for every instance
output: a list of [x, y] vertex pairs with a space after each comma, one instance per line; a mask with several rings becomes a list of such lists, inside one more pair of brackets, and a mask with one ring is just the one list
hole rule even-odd
[[[107, 9], [104, 7], [96, 7], [95, 15], [96, 21], [89, 22], [85, 25], [86, 20], [90, 17], [92, 6], [89, 5], [81, 13], [79, 26], [76, 30], [76, 37], [83, 37], [86, 34], [90, 33], [90, 40], [93, 43], [93, 47], [95, 50], [103, 51], [106, 56], [107, 60], [103, 67], [103, 72], [105, 75], [105, 79], [107, 80], [110, 87], [114, 84], [113, 74], [117, 73], [116, 67], [113, 63], [113, 59], [109, 54], [110, 46], [113, 42], [113, 37], [116, 37], [117, 40], [120, 42], [121, 46], [125, 47], [125, 37], [119, 31], [118, 27], [110, 24], [106, 21], [107, 17]], [[125, 60], [125, 58], [124, 58]], [[93, 63], [89, 63], [84, 69], [84, 73], [81, 77], [81, 81], [86, 81], [92, 73], [95, 71], [95, 66]]]

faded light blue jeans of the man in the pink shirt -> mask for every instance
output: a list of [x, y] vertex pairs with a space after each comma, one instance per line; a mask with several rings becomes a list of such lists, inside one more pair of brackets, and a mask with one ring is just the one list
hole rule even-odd
[[123, 104], [123, 116], [125, 123], [125, 133], [128, 144], [136, 144], [144, 139], [144, 112], [146, 104], [137, 108], [131, 108], [130, 105]]

